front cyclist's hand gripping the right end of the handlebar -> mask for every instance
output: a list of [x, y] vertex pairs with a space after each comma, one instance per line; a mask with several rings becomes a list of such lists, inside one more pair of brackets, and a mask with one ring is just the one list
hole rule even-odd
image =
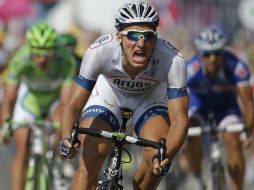
[[158, 157], [153, 159], [153, 173], [158, 176], [164, 176], [171, 171], [171, 162], [168, 158], [159, 163]]

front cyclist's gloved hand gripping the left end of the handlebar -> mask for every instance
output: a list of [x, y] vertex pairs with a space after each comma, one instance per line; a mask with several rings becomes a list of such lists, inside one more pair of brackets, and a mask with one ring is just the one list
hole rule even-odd
[[71, 146], [69, 138], [64, 138], [60, 143], [61, 155], [64, 158], [72, 159], [76, 156], [80, 147], [80, 141]]

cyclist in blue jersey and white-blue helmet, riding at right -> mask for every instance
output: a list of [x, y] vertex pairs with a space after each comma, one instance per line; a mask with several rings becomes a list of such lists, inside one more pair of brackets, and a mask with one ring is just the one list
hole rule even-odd
[[[224, 48], [225, 43], [225, 35], [215, 26], [205, 29], [195, 39], [199, 54], [188, 62], [187, 79], [190, 125], [204, 124], [208, 112], [212, 111], [218, 127], [243, 120], [251, 132], [254, 115], [249, 69], [242, 60]], [[223, 140], [228, 154], [231, 189], [243, 190], [245, 161], [239, 134], [225, 133]], [[199, 138], [193, 138], [187, 143], [187, 158], [196, 176], [201, 175], [200, 142]], [[244, 143], [250, 145], [251, 138]]]

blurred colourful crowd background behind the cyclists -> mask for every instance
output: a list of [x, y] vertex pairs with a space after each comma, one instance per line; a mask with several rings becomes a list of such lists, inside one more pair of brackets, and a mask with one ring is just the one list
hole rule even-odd
[[[144, 0], [145, 1], [145, 0]], [[114, 16], [128, 0], [0, 0], [0, 87], [8, 60], [24, 41], [25, 31], [40, 19], [58, 32], [77, 39], [76, 53], [103, 33], [116, 32]], [[194, 37], [205, 27], [220, 26], [227, 45], [254, 73], [254, 0], [148, 0], [159, 12], [159, 37], [174, 44], [188, 59], [195, 53]], [[0, 95], [0, 102], [3, 95]], [[10, 189], [13, 145], [0, 145], [0, 189]], [[247, 189], [254, 182], [254, 157], [248, 159]], [[249, 187], [248, 187], [249, 186]], [[161, 187], [162, 190], [165, 189]]]

